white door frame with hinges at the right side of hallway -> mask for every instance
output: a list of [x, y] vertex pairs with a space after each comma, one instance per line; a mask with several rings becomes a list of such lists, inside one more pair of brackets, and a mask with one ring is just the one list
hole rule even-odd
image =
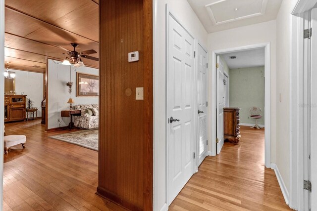
[[[304, 81], [304, 68], [308, 68], [310, 64], [304, 59], [304, 38], [303, 30], [307, 17], [305, 12], [311, 10], [317, 0], [298, 0], [297, 5], [292, 11], [291, 16], [291, 31], [290, 31], [290, 93], [289, 93], [289, 137], [290, 137], [290, 169], [289, 169], [289, 207], [294, 210], [307, 210], [308, 209], [308, 196], [304, 193], [303, 180], [305, 178], [304, 167], [304, 146], [307, 144], [307, 139], [303, 139], [304, 128], [301, 127], [303, 121], [310, 121], [303, 117], [299, 112], [299, 105], [304, 106], [305, 103], [298, 96], [303, 92]], [[307, 66], [308, 65], [308, 66]], [[310, 134], [306, 134], [306, 136]], [[308, 158], [307, 158], [308, 159]], [[312, 178], [313, 180], [313, 178]], [[313, 201], [313, 200], [312, 200]]]

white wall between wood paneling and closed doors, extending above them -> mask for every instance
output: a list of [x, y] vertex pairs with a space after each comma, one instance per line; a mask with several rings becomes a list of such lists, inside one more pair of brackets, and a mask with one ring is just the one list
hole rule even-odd
[[187, 0], [154, 0], [154, 210], [166, 209], [165, 4], [176, 19], [207, 47], [208, 34]]

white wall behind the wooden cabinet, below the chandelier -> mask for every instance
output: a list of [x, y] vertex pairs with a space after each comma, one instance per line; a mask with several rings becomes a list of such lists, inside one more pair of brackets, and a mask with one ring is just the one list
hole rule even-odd
[[[38, 117], [42, 117], [41, 102], [43, 100], [43, 73], [34, 73], [21, 70], [15, 72], [15, 94], [26, 94], [27, 101], [31, 99], [32, 106], [38, 108]], [[27, 106], [26, 102], [26, 106]]]

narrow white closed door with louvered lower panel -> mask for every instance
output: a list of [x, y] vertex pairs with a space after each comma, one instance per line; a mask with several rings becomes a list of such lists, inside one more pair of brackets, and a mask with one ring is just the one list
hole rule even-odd
[[198, 166], [207, 156], [207, 52], [198, 44]]

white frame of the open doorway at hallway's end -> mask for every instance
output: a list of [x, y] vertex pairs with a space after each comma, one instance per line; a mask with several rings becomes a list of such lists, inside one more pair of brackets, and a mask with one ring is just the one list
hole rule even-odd
[[[271, 92], [270, 92], [270, 43], [264, 42], [259, 44], [245, 45], [240, 47], [226, 48], [220, 50], [211, 51], [211, 74], [209, 80], [211, 81], [211, 110], [209, 115], [209, 121], [211, 125], [211, 156], [216, 156], [216, 56], [223, 53], [231, 53], [241, 50], [250, 50], [254, 48], [264, 47], [264, 127], [265, 127], [265, 138], [264, 138], [264, 165], [266, 168], [271, 168]], [[213, 114], [213, 115], [212, 115]], [[210, 134], [209, 134], [210, 135]]]

